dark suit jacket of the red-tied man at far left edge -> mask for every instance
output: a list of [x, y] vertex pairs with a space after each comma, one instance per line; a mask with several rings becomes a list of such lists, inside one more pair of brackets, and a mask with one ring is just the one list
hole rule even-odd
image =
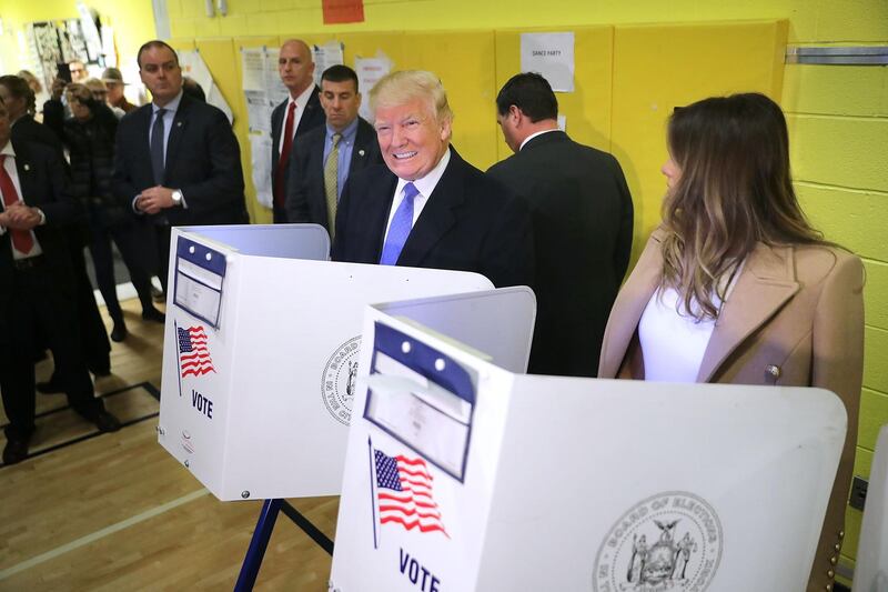
[[[80, 214], [80, 204], [65, 190], [62, 161], [50, 148], [37, 142], [13, 141], [16, 170], [19, 173], [21, 198], [32, 208], [40, 208], [47, 223], [34, 228], [43, 251], [44, 267], [58, 280], [56, 287], [65, 298], [73, 299], [74, 275], [63, 229]], [[0, 309], [7, 310], [13, 291], [12, 239], [9, 230], [0, 235]], [[0, 323], [4, 322], [0, 314]], [[0, 339], [6, 331], [0, 330]]]

